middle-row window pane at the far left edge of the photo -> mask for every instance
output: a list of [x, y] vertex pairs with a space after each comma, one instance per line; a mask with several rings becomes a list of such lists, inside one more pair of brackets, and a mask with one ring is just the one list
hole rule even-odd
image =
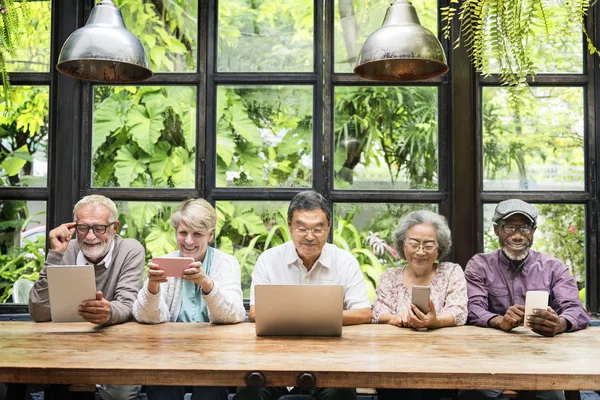
[[12, 108], [0, 103], [0, 186], [47, 185], [48, 93], [46, 86], [13, 85]]

